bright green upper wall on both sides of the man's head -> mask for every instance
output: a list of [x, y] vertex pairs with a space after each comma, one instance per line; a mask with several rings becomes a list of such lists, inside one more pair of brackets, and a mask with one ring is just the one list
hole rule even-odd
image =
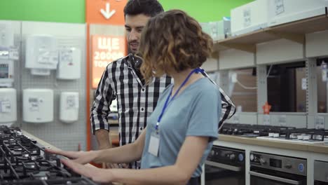
[[[209, 22], [229, 16], [231, 8], [247, 4], [252, 0], [159, 1], [165, 11], [178, 8], [186, 11], [199, 22]], [[0, 0], [0, 20], [83, 23], [86, 22], [85, 9], [85, 0]]]

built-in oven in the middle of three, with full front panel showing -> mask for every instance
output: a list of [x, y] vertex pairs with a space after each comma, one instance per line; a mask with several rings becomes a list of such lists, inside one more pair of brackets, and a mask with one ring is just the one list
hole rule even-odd
[[250, 184], [306, 185], [306, 159], [251, 151]]

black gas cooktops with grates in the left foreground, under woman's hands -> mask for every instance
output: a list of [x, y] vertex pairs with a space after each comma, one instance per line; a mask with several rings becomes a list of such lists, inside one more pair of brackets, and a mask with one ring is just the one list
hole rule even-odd
[[60, 158], [22, 135], [19, 128], [0, 126], [0, 184], [96, 184], [72, 172]]

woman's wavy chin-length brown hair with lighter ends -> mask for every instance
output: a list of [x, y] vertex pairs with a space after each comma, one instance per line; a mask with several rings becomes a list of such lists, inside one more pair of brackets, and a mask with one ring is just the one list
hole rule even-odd
[[172, 69], [200, 67], [212, 53], [213, 41], [198, 22], [184, 11], [172, 10], [150, 18], [142, 31], [139, 55], [147, 83]]

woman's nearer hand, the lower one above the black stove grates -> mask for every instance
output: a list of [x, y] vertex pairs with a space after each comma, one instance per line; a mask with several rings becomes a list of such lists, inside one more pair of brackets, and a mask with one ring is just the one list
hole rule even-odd
[[61, 161], [74, 172], [88, 177], [97, 183], [109, 183], [113, 179], [111, 170], [81, 165], [81, 163], [76, 163], [74, 160], [62, 159]]

